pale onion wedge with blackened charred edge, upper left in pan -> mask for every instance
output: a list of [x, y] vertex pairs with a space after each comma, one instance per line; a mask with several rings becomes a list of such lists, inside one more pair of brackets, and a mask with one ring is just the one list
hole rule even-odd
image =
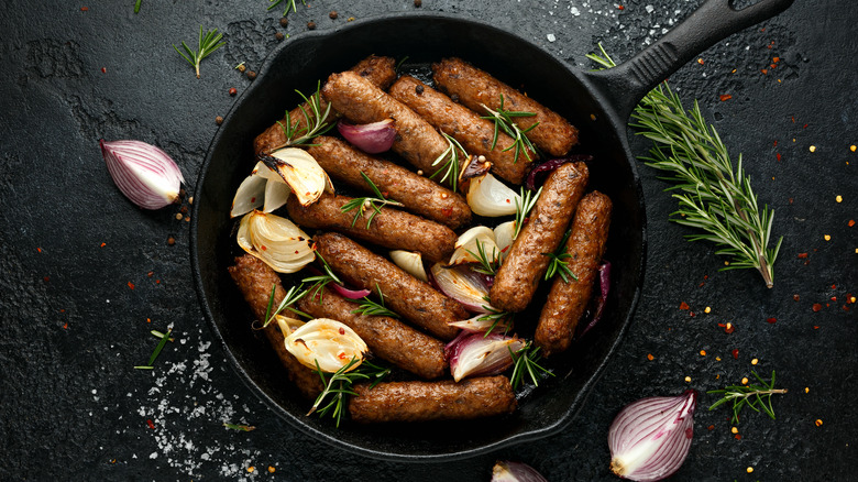
[[280, 149], [265, 157], [264, 162], [289, 185], [301, 206], [316, 202], [322, 193], [333, 189], [328, 174], [307, 151]]

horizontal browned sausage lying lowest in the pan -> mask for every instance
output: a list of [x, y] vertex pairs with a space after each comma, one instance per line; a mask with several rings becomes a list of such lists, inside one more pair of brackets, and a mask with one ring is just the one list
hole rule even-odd
[[503, 375], [468, 379], [459, 383], [388, 382], [370, 388], [354, 385], [349, 415], [359, 423], [466, 420], [512, 414], [516, 396]]

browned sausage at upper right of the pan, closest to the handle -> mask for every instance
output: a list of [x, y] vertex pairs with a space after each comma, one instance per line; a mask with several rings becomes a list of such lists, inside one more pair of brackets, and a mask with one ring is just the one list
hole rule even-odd
[[436, 85], [441, 91], [451, 97], [457, 96], [460, 102], [481, 114], [485, 112], [482, 105], [497, 110], [501, 107], [502, 95], [504, 109], [536, 113], [532, 117], [517, 117], [515, 122], [522, 130], [539, 122], [539, 125], [528, 132], [527, 136], [550, 155], [564, 155], [578, 144], [578, 129], [559, 113], [461, 58], [444, 58], [432, 65], [432, 73]]

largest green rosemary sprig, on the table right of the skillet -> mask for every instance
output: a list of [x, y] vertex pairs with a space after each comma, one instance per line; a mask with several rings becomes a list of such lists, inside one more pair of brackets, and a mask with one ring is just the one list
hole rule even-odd
[[[587, 58], [613, 67], [614, 61], [600, 45], [603, 56]], [[640, 157], [648, 166], [668, 174], [663, 177], [679, 189], [673, 197], [679, 209], [671, 220], [697, 228], [704, 233], [690, 234], [691, 241], [707, 240], [719, 247], [715, 254], [730, 258], [724, 270], [756, 269], [766, 286], [772, 287], [773, 265], [783, 237], [769, 249], [774, 211], [768, 205], [760, 209], [741, 167], [741, 154], [734, 169], [727, 147], [715, 128], [707, 125], [694, 101], [685, 110], [679, 96], [667, 83], [652, 89], [632, 113], [631, 127], [653, 141], [651, 156]]]

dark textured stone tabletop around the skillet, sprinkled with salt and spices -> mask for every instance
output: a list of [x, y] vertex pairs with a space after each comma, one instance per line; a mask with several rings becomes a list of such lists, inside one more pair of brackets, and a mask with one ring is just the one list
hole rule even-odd
[[[702, 395], [695, 441], [674, 480], [854, 476], [858, 326], [847, 298], [858, 295], [858, 227], [848, 226], [858, 218], [858, 153], [849, 150], [858, 144], [858, 13], [851, 2], [796, 2], [671, 77], [686, 102], [700, 99], [734, 156], [744, 153], [760, 202], [777, 212], [773, 235], [783, 245], [774, 287], [754, 272], [718, 272], [723, 260], [712, 245], [685, 242], [690, 231], [667, 220], [675, 201], [662, 191], [666, 184], [641, 166], [650, 229], [644, 296], [581, 414], [561, 435], [431, 465], [361, 459], [275, 417], [212, 344], [190, 278], [189, 223], [175, 217], [180, 208], [134, 207], [98, 150], [100, 138], [157, 144], [193, 190], [218, 129], [215, 117], [235, 101], [229, 89], [249, 85], [237, 64], [258, 66], [276, 32], [411, 11], [413, 1], [298, 2], [285, 29], [280, 8], [266, 12], [262, 0], [143, 0], [136, 15], [131, 1], [7, 3], [0, 479], [488, 480], [495, 459], [515, 459], [552, 481], [615, 480], [605, 438], [625, 404], [689, 386], [703, 393], [752, 369], [776, 370], [778, 385], [790, 390], [774, 399], [778, 419], [746, 413], [737, 440], [728, 412], [707, 412], [715, 398]], [[593, 0], [536, 3], [426, 0], [420, 8], [492, 20], [590, 68], [584, 54], [597, 42], [628, 58], [698, 2], [630, 1], [623, 10]], [[196, 79], [170, 45], [195, 43], [199, 24], [224, 32], [228, 45], [204, 61]], [[721, 101], [723, 94], [733, 98]], [[647, 143], [632, 139], [632, 150], [644, 154]], [[683, 302], [690, 310], [679, 308]], [[717, 326], [727, 321], [736, 326], [732, 335]], [[148, 331], [168, 325], [176, 342], [156, 370], [133, 370], [156, 343]], [[736, 349], [738, 359], [730, 354]], [[257, 429], [231, 431], [224, 421]]]

